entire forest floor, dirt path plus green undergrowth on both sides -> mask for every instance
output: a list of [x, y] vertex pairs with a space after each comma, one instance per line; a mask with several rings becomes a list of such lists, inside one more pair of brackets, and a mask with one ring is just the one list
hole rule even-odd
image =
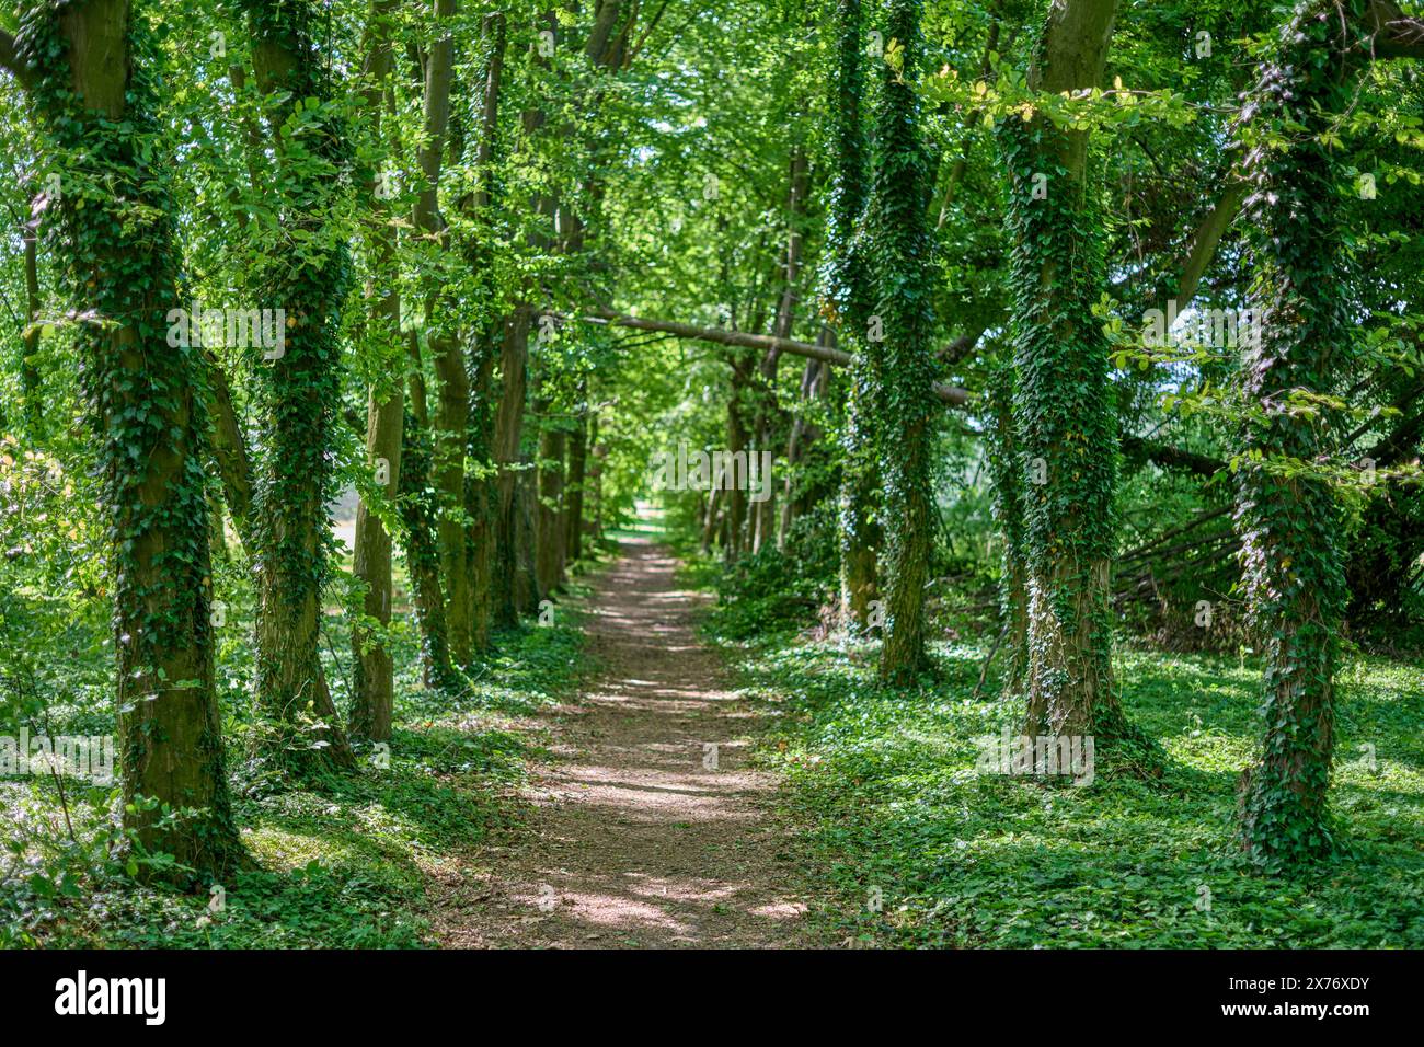
[[[1259, 745], [1249, 652], [1119, 638], [1159, 779], [981, 773], [1020, 711], [994, 670], [977, 694], [973, 631], [937, 640], [914, 687], [883, 687], [874, 641], [807, 631], [824, 597], [778, 558], [679, 563], [656, 516], [578, 566], [548, 627], [498, 634], [460, 694], [422, 685], [402, 615], [389, 761], [362, 749], [355, 773], [281, 782], [251, 756], [253, 611], [232, 603], [219, 685], [255, 868], [216, 885], [216, 910], [135, 885], [110, 786], [7, 779], [0, 947], [1424, 947], [1417, 661], [1343, 660], [1343, 852], [1262, 875], [1235, 843]], [[343, 621], [326, 621], [333, 681]], [[46, 667], [46, 715], [111, 734], [105, 650], [75, 648]]]

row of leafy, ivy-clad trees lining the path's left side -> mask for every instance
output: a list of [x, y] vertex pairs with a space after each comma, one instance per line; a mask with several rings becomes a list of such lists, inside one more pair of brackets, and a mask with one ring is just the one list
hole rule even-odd
[[[355, 742], [390, 739], [393, 548], [426, 678], [451, 691], [493, 628], [564, 583], [598, 474], [598, 339], [560, 338], [555, 282], [598, 279], [581, 255], [601, 81], [651, 30], [637, 7], [245, 0], [179, 20], [41, 0], [0, 37], [33, 121], [37, 268], [64, 276], [60, 321], [31, 285], [20, 415], [27, 443], [58, 439], [57, 390], [31, 375], [44, 332], [81, 362], [97, 442], [141, 848], [202, 875], [244, 860], [215, 685], [228, 524], [255, 590], [253, 748], [288, 773], [350, 769]], [[174, 345], [174, 311], [215, 301], [273, 311], [278, 345]], [[360, 433], [365, 462], [343, 463]], [[343, 718], [322, 620], [350, 483]]]

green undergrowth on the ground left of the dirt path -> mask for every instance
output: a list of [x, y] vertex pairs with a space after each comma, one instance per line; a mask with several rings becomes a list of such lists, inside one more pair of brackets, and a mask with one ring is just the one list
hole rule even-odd
[[[328, 628], [330, 650], [349, 651], [335, 615]], [[394, 651], [399, 667], [416, 662], [410, 634], [394, 632], [397, 648], [412, 648]], [[337, 698], [340, 670], [328, 662]], [[430, 946], [431, 875], [517, 813], [504, 796], [524, 781], [541, 745], [530, 717], [570, 698], [587, 671], [580, 615], [562, 610], [553, 627], [497, 635], [494, 652], [457, 697], [424, 689], [417, 671], [403, 670], [389, 759], [363, 746], [359, 773], [300, 788], [246, 773], [234, 698], [225, 717], [235, 816], [255, 868], [211, 895], [137, 886], [125, 875], [112, 828], [117, 791], [77, 789], [70, 781], [61, 805], [53, 781], [0, 781], [10, 842], [0, 853], [0, 944]]]

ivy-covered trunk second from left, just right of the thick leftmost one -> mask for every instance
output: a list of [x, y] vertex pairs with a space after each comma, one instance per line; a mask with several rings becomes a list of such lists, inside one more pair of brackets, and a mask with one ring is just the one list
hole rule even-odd
[[[261, 366], [266, 437], [256, 491], [258, 697], [273, 736], [265, 746], [296, 771], [355, 766], [320, 671], [328, 575], [332, 427], [340, 402], [339, 321], [349, 279], [336, 228], [349, 158], [328, 73], [318, 60], [315, 9], [246, 0], [258, 87], [269, 100], [281, 182], [281, 232], [302, 249], [272, 265], [263, 308], [283, 309], [281, 356]], [[298, 108], [300, 104], [300, 108]]]

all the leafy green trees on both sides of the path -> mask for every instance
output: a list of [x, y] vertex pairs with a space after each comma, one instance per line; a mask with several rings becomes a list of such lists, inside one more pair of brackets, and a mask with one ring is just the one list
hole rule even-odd
[[[1339, 637], [1408, 605], [1424, 551], [1418, 214], [1390, 191], [1418, 178], [1421, 27], [1394, 4], [21, 16], [0, 34], [0, 132], [26, 158], [0, 426], [101, 477], [73, 479], [104, 513], [85, 600], [112, 605], [144, 846], [242, 860], [228, 594], [255, 604], [252, 758], [352, 768], [390, 738], [399, 568], [424, 679], [457, 691], [671, 436], [775, 456], [770, 497], [681, 511], [739, 566], [834, 561], [891, 684], [931, 668], [983, 463], [1025, 732], [1145, 769], [1161, 754], [1112, 672], [1124, 598], [1161, 595], [1168, 556], [1179, 581], [1239, 583], [1265, 657], [1246, 846], [1329, 848]], [[169, 345], [192, 302], [281, 309], [281, 345]], [[1151, 311], [1192, 308], [1265, 316], [1260, 338], [1143, 338]], [[71, 392], [93, 442], [51, 410]], [[51, 560], [33, 577], [88, 577]], [[349, 684], [322, 651], [347, 593]]]

